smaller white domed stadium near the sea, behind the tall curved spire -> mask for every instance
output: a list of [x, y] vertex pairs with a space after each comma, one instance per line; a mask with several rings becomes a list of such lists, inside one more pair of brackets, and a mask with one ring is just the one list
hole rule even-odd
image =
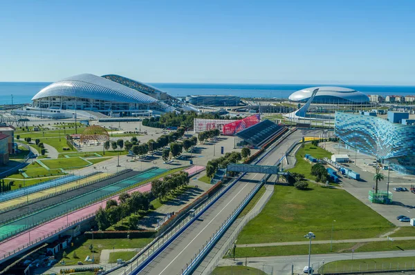
[[291, 94], [288, 99], [295, 102], [306, 102], [311, 98], [313, 91], [318, 89], [313, 103], [322, 104], [362, 104], [369, 103], [369, 96], [357, 90], [342, 87], [312, 87], [299, 90]]

